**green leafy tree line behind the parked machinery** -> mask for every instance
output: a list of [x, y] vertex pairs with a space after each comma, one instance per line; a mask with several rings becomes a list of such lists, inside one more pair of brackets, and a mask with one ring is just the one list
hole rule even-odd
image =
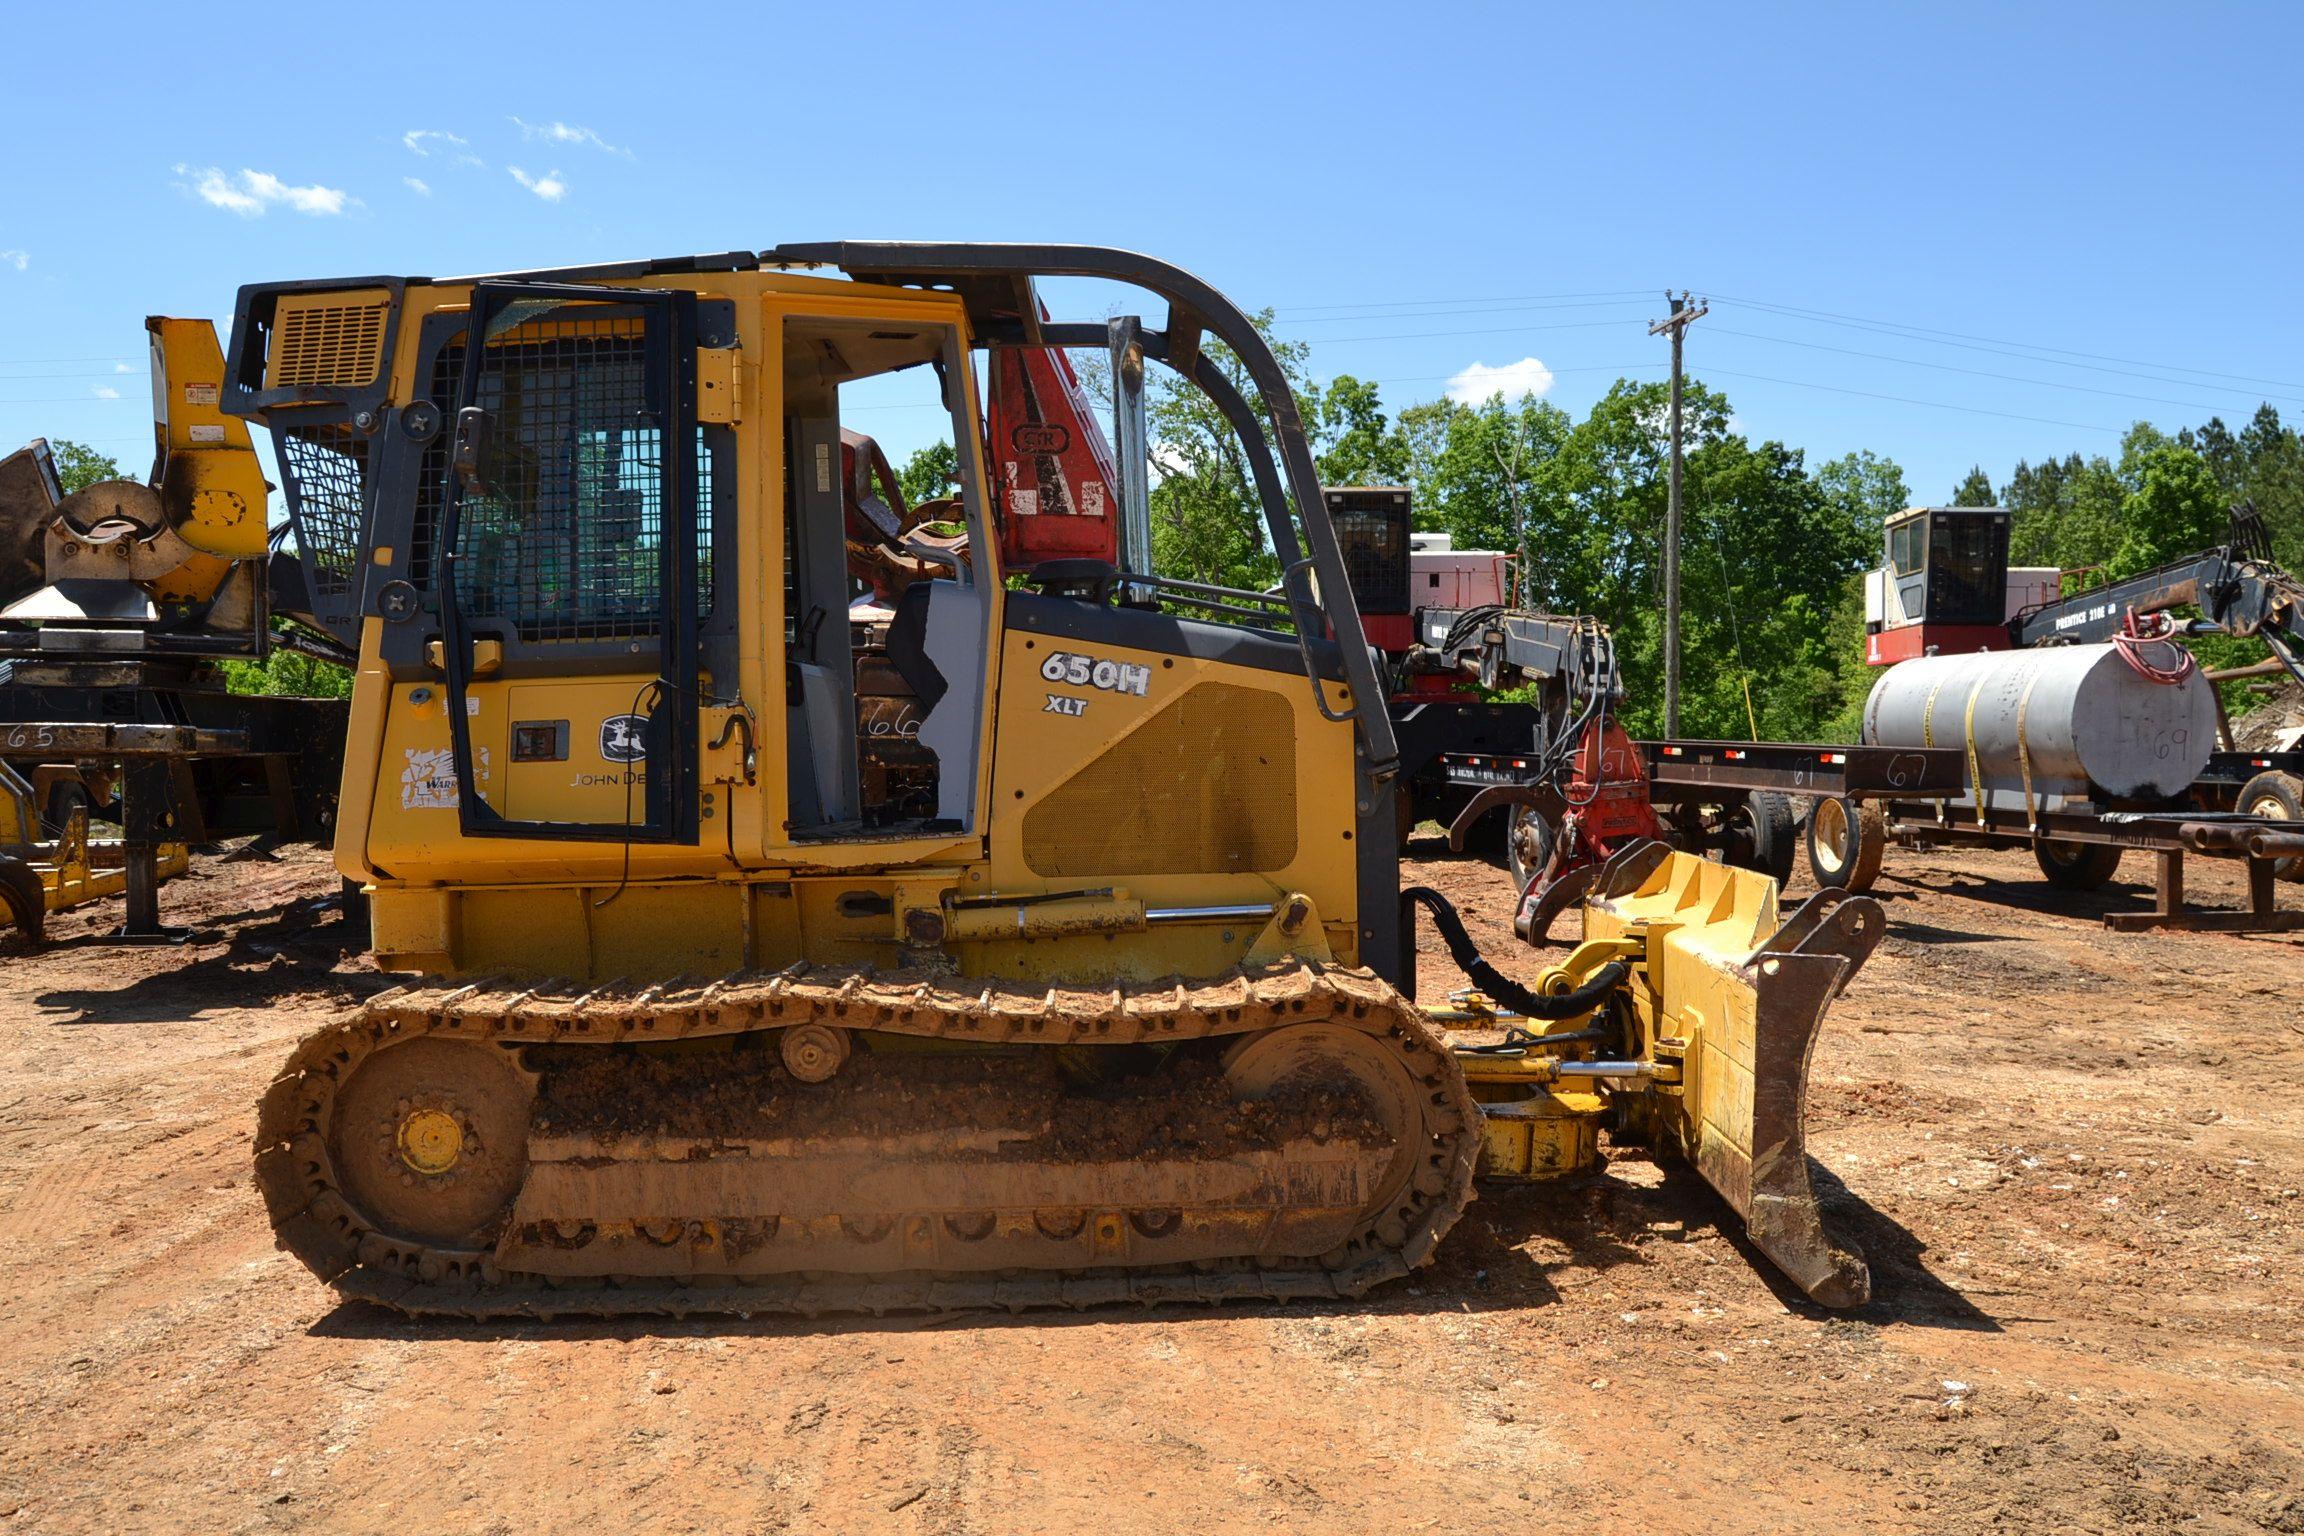
[[[1270, 311], [1258, 318], [1270, 339]], [[1263, 415], [1246, 371], [1233, 382]], [[1663, 732], [1663, 509], [1668, 385], [1617, 380], [1581, 419], [1521, 396], [1387, 410], [1378, 385], [1320, 382], [1302, 341], [1272, 339], [1327, 486], [1408, 486], [1419, 530], [1456, 548], [1528, 550], [1532, 601], [1590, 613], [1617, 638], [1627, 725]], [[1101, 357], [1076, 355], [1092, 394]], [[1157, 569], [1263, 590], [1279, 562], [1263, 541], [1246, 463], [1198, 389], [1150, 385]], [[1905, 507], [2011, 509], [2011, 564], [2085, 569], [2104, 580], [2221, 543], [2233, 502], [2253, 500], [2274, 548], [2304, 569], [2304, 442], [2265, 405], [2242, 428], [2221, 419], [2168, 435], [2138, 421], [2120, 454], [2018, 461], [1995, 486], [1979, 465], [1938, 493], [1905, 484], [1873, 451], [1809, 463], [1753, 440], [1730, 401], [1689, 380], [1684, 421], [1682, 735], [1852, 742], [1878, 677], [1864, 666], [1864, 580], [1882, 557], [1882, 520]], [[949, 447], [933, 470], [949, 463]], [[929, 472], [926, 458], [908, 472]], [[933, 479], [924, 474], [922, 479]], [[922, 491], [929, 491], [922, 484]], [[2203, 640], [2210, 666], [2253, 661], [2253, 640]]]

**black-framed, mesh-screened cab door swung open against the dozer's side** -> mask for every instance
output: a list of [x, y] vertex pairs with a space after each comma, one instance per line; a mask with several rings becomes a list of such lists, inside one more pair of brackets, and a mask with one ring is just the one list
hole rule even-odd
[[[696, 843], [696, 295], [475, 283], [465, 339], [438, 525], [458, 827]], [[555, 647], [654, 652], [629, 709], [645, 718], [645, 769], [627, 769], [643, 783], [622, 818], [511, 820], [479, 797], [468, 698], [482, 631], [528, 663]]]

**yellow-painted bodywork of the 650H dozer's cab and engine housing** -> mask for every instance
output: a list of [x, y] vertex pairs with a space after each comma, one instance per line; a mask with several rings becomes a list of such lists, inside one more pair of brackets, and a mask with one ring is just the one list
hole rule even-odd
[[[1048, 981], [1210, 974], [1258, 944], [1341, 963], [1357, 958], [1350, 725], [1320, 718], [1302, 675], [1009, 631], [1007, 590], [988, 539], [972, 553], [986, 666], [968, 829], [795, 838], [783, 725], [783, 336], [795, 322], [873, 320], [912, 332], [942, 327], [952, 348], [965, 352], [965, 309], [945, 292], [776, 272], [666, 274], [627, 286], [684, 288], [698, 299], [726, 299], [735, 313], [735, 345], [698, 352], [700, 417], [726, 428], [733, 442], [733, 465], [723, 465], [721, 477], [733, 495], [717, 497], [714, 518], [723, 530], [723, 601], [737, 603], [733, 666], [723, 666], [726, 677], [710, 679], [698, 712], [700, 841], [463, 836], [440, 656], [417, 675], [394, 677], [382, 663], [382, 629], [371, 622], [353, 689], [336, 864], [373, 891], [376, 949], [385, 965], [507, 967], [567, 979], [712, 974], [797, 958], [899, 965], [908, 914], [915, 942], [924, 914], [942, 919], [945, 949], [963, 974]], [[313, 378], [332, 368], [357, 373], [371, 336], [382, 345], [382, 332], [366, 320], [366, 309], [382, 299], [382, 290], [283, 297], [283, 311], [290, 304], [309, 311], [297, 322], [295, 366], [318, 371]], [[378, 352], [389, 375], [389, 405], [429, 398], [431, 378], [419, 378], [424, 318], [456, 315], [468, 302], [470, 290], [456, 283], [408, 290], [389, 357]], [[323, 325], [320, 311], [329, 309], [341, 311], [327, 320], [334, 332]], [[272, 366], [281, 366], [281, 348], [274, 334]], [[975, 373], [954, 368], [952, 380], [965, 419], [977, 421]], [[869, 428], [869, 419], [859, 421]], [[961, 431], [958, 444], [963, 484], [982, 488], [988, 465], [979, 433]], [[988, 527], [988, 507], [977, 516]], [[647, 712], [652, 647], [634, 656], [631, 670], [553, 675], [539, 670], [535, 654], [495, 656], [491, 645], [484, 640], [475, 654], [468, 689], [477, 794], [514, 820], [617, 824], [627, 820], [627, 804], [638, 820], [645, 762], [606, 755], [604, 721]], [[1078, 714], [1051, 714], [1046, 695], [1058, 689], [1039, 668], [1060, 645], [1115, 668], [1143, 668], [1143, 693], [1062, 689], [1090, 702]], [[1032, 808], [1104, 753], [1124, 753], [1136, 730], [1200, 686], [1233, 691], [1223, 698], [1237, 709], [1228, 705], [1223, 730], [1235, 755], [1203, 776], [1198, 804], [1164, 801], [1161, 813], [1173, 811], [1170, 822], [1207, 854], [1200, 864], [1210, 868], [1182, 868], [1170, 857], [1168, 866], [1143, 875], [1127, 868], [1037, 873], [1023, 834]], [[537, 755], [535, 744], [562, 723], [567, 755]], [[518, 732], [521, 725], [537, 730]], [[523, 744], [518, 755], [516, 744]], [[1249, 811], [1226, 797], [1226, 785], [1258, 774], [1272, 804], [1286, 806], [1286, 824], [1242, 838], [1237, 831], [1253, 824], [1240, 820]], [[1214, 820], [1191, 831], [1193, 818]], [[1039, 864], [1048, 866], [1046, 850]], [[1085, 910], [1030, 900], [1087, 889], [1124, 889], [1124, 898], [1097, 898], [1106, 907], [1094, 921], [1071, 921]], [[1018, 900], [970, 905], [984, 896]], [[1286, 935], [1270, 935], [1265, 917], [1140, 926], [1145, 907], [1279, 912], [1293, 896], [1304, 900], [1306, 917]], [[1025, 914], [1021, 923], [1018, 912]]]

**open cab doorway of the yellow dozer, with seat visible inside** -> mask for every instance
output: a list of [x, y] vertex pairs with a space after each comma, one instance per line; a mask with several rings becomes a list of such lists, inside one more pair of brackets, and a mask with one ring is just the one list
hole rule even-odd
[[[1002, 587], [965, 313], [940, 295], [776, 292], [763, 329], [767, 642], [783, 661], [763, 859], [979, 857]], [[931, 447], [949, 449], [949, 479], [915, 472], [903, 491], [882, 461]]]

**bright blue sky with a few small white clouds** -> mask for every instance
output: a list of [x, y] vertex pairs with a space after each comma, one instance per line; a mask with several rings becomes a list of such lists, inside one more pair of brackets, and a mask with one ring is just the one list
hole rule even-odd
[[141, 318], [251, 279], [1078, 239], [1392, 405], [1484, 364], [1581, 412], [1661, 378], [1687, 286], [1742, 431], [1945, 500], [2304, 415], [2299, 41], [2295, 5], [21, 7], [0, 447], [141, 472]]

